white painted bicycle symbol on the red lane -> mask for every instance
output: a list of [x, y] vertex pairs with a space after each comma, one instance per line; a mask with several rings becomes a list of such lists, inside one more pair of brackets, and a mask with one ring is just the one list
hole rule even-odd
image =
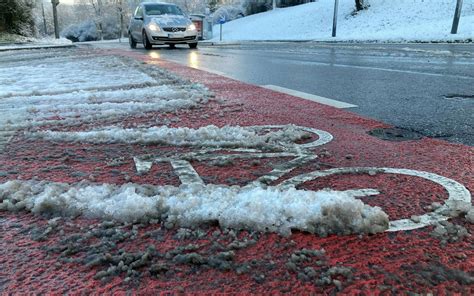
[[[248, 129], [265, 132], [269, 130], [275, 130], [283, 128], [280, 125], [265, 125], [265, 126], [251, 126]], [[301, 167], [308, 162], [315, 160], [317, 156], [311, 151], [312, 148], [321, 146], [332, 141], [333, 136], [322, 130], [297, 126], [298, 129], [317, 135], [318, 138], [312, 142], [304, 144], [295, 144], [291, 146], [283, 146], [281, 152], [268, 153], [259, 149], [202, 149], [196, 152], [185, 153], [176, 155], [173, 157], [166, 158], [154, 158], [154, 159], [143, 159], [141, 157], [135, 157], [135, 166], [139, 173], [146, 173], [149, 171], [154, 163], [169, 162], [174, 169], [174, 172], [179, 177], [181, 183], [191, 184], [198, 183], [203, 184], [204, 182], [191, 165], [189, 159], [196, 161], [213, 161], [213, 160], [233, 160], [233, 159], [255, 159], [255, 158], [279, 158], [279, 157], [292, 157], [293, 159], [285, 163], [282, 167], [275, 168], [268, 174], [258, 178], [255, 182], [268, 184], [274, 182], [278, 184], [278, 180], [291, 172], [292, 170]], [[226, 151], [231, 154], [218, 154], [219, 152]], [[333, 168], [328, 170], [317, 170], [309, 173], [301, 174], [283, 182], [280, 182], [277, 187], [288, 188], [296, 187], [305, 182], [316, 180], [318, 178], [341, 175], [341, 174], [399, 174], [406, 176], [413, 176], [423, 178], [435, 184], [441, 185], [448, 193], [448, 198], [444, 204], [435, 209], [432, 212], [425, 213], [418, 217], [418, 221], [414, 221], [410, 218], [403, 218], [398, 220], [390, 221], [389, 228], [387, 231], [402, 231], [402, 230], [413, 230], [432, 225], [436, 222], [448, 220], [453, 214], [459, 213], [466, 206], [471, 205], [471, 193], [465, 186], [447, 177], [443, 177], [434, 173], [403, 169], [403, 168], [387, 168], [387, 167], [342, 167]], [[376, 189], [366, 188], [358, 190], [347, 190], [349, 194], [354, 197], [372, 196], [380, 194]]]

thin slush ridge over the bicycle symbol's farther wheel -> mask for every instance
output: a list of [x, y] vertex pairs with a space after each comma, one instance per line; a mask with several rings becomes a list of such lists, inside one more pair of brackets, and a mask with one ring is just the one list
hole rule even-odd
[[295, 125], [286, 125], [282, 129], [258, 134], [252, 127], [208, 125], [198, 129], [187, 127], [171, 128], [167, 126], [123, 129], [107, 127], [83, 132], [39, 131], [28, 133], [30, 137], [50, 141], [85, 142], [95, 144], [166, 144], [175, 146], [200, 147], [275, 147], [288, 146], [304, 139], [308, 133]]

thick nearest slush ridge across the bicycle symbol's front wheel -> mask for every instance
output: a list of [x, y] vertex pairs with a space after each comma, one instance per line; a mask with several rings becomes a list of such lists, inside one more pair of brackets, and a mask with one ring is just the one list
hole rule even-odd
[[161, 218], [175, 226], [218, 221], [221, 227], [278, 232], [292, 229], [319, 235], [377, 233], [388, 216], [343, 191], [224, 185], [94, 185], [39, 181], [0, 184], [0, 210], [26, 209], [117, 221]]

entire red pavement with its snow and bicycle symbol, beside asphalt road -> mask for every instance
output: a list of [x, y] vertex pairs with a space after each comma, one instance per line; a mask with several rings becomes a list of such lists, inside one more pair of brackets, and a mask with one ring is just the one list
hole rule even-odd
[[474, 293], [472, 147], [150, 52], [0, 52], [0, 294]]

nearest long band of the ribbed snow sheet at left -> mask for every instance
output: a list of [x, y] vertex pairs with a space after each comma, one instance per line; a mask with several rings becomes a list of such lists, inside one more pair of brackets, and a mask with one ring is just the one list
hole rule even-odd
[[[87, 122], [144, 112], [169, 112], [207, 101], [203, 89], [173, 89], [167, 85], [109, 91], [20, 96], [0, 100], [1, 126], [24, 128], [45, 124]], [[53, 117], [61, 119], [52, 120]]]

